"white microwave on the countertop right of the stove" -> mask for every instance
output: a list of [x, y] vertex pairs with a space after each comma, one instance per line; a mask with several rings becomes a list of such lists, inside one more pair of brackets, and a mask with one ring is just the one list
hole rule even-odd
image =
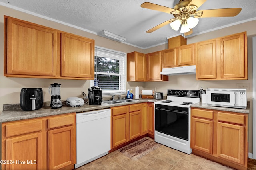
[[206, 89], [206, 104], [208, 106], [232, 107], [246, 109], [246, 89]]

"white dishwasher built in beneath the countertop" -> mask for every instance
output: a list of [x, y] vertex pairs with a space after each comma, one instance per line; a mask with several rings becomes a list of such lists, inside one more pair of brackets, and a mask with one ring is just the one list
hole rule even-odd
[[111, 136], [110, 116], [110, 109], [76, 114], [75, 168], [108, 154]]

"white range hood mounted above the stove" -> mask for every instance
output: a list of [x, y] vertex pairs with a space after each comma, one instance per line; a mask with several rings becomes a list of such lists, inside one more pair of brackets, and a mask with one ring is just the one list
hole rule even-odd
[[196, 66], [182, 66], [182, 67], [172, 67], [172, 68], [163, 68], [160, 74], [163, 75], [180, 75], [180, 74], [196, 74]]

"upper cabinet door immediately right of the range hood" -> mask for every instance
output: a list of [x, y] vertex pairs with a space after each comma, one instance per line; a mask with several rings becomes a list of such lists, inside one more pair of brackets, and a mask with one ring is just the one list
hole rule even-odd
[[197, 43], [196, 78], [217, 78], [216, 40]]

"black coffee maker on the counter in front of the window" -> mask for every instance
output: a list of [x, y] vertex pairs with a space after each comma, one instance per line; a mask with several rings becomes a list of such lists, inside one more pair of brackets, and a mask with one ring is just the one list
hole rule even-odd
[[101, 105], [102, 90], [98, 86], [88, 88], [88, 98], [90, 105]]

